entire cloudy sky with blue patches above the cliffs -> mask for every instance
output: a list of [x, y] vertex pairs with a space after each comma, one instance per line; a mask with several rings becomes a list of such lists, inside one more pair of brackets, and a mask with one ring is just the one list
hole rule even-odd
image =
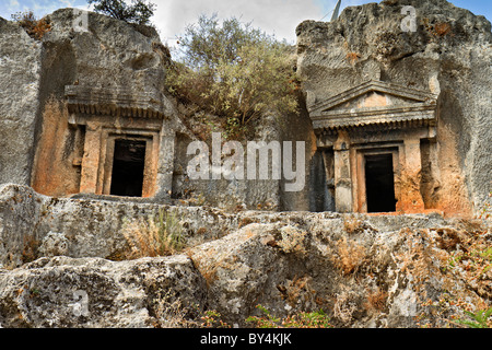
[[[127, 0], [130, 3], [130, 0]], [[295, 43], [295, 27], [304, 20], [329, 21], [337, 0], [151, 0], [156, 4], [152, 22], [163, 42], [174, 46], [176, 36], [200, 14], [216, 13], [220, 19], [239, 18], [253, 26]], [[379, 0], [342, 0], [340, 12], [348, 5]], [[492, 21], [491, 0], [450, 0], [455, 5]], [[86, 0], [0, 0], [0, 16], [10, 20], [12, 13], [32, 10], [38, 18], [60, 8], [89, 9]]]

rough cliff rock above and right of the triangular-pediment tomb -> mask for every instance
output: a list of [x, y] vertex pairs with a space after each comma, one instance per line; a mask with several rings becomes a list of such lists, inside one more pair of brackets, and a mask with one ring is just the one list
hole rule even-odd
[[[415, 10], [415, 31], [401, 22]], [[307, 107], [370, 79], [438, 95], [438, 155], [426, 170], [430, 208], [477, 211], [491, 186], [492, 34], [483, 16], [440, 1], [347, 8], [332, 23], [306, 21], [297, 70]]]

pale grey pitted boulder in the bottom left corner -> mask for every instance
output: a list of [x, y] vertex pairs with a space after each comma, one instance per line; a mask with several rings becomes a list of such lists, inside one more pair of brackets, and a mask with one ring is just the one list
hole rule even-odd
[[173, 326], [173, 317], [178, 316], [169, 314], [173, 304], [179, 304], [179, 316], [197, 317], [204, 306], [204, 291], [203, 278], [186, 256], [121, 262], [42, 258], [22, 269], [0, 270], [0, 325]]

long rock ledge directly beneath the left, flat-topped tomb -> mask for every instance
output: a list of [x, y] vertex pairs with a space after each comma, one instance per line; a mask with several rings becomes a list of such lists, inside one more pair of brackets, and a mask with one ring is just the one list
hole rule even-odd
[[206, 207], [54, 198], [20, 185], [0, 186], [0, 264], [17, 267], [40, 256], [118, 259], [128, 252], [124, 232], [166, 210], [184, 228], [188, 246], [215, 240], [239, 218]]

